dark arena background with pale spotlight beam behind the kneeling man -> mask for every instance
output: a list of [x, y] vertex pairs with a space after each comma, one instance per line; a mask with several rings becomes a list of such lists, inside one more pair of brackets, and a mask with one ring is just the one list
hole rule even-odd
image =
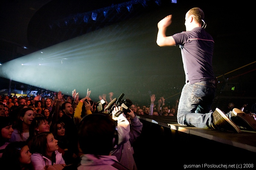
[[[99, 12], [128, 2], [134, 3], [130, 12], [125, 6], [119, 13], [109, 8], [107, 17]], [[172, 104], [179, 98], [185, 75], [179, 47], [157, 46], [157, 23], [172, 14], [168, 35], [185, 31], [186, 12], [200, 7], [206, 31], [215, 41], [212, 63], [219, 80], [215, 106], [233, 100], [240, 107], [255, 101], [250, 2], [177, 0], [173, 4], [162, 0], [157, 5], [148, 0], [145, 7], [136, 2], [1, 2], [0, 89], [8, 89], [11, 79], [12, 84], [21, 82], [67, 95], [76, 89], [81, 97], [89, 88], [93, 100], [114, 92], [116, 98], [124, 93], [124, 98], [136, 103], [150, 103], [150, 95], [156, 94], [156, 100], [164, 96]], [[89, 11], [97, 12], [97, 19], [89, 17], [85, 23], [82, 14]], [[42, 67], [40, 52], [44, 52]], [[31, 65], [21, 67], [20, 62]]]

